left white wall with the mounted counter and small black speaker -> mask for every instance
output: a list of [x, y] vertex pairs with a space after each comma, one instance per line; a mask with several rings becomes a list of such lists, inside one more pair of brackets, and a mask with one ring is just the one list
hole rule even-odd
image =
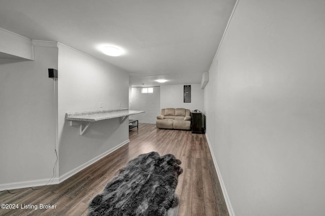
[[[102, 109], [128, 108], [128, 73], [57, 42], [33, 44], [35, 61], [0, 64], [0, 190], [48, 183], [55, 148], [49, 184], [129, 141], [127, 120], [95, 122], [83, 136], [65, 120], [66, 112], [100, 110], [100, 102]], [[58, 69], [55, 103], [48, 68]]]

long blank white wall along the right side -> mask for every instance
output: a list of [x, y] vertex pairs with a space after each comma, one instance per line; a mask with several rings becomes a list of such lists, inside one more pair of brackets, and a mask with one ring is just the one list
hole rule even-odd
[[316, 0], [239, 1], [204, 91], [231, 213], [324, 214], [324, 11]]

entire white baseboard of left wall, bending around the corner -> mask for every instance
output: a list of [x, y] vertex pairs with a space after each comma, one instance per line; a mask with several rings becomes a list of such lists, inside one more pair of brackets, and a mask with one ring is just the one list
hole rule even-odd
[[5, 191], [5, 190], [13, 190], [13, 189], [19, 189], [19, 188], [29, 188], [29, 187], [37, 187], [37, 186], [44, 186], [44, 185], [55, 185], [55, 184], [59, 184], [61, 182], [63, 182], [64, 180], [72, 177], [73, 175], [75, 175], [77, 172], [81, 171], [82, 169], [86, 168], [87, 166], [91, 165], [92, 163], [102, 159], [103, 157], [105, 157], [106, 155], [112, 153], [113, 151], [115, 151], [116, 149], [124, 146], [125, 144], [129, 143], [130, 140], [127, 139], [124, 142], [118, 144], [117, 146], [115, 146], [114, 148], [100, 154], [99, 156], [81, 164], [80, 166], [70, 170], [69, 172], [67, 172], [66, 174], [60, 176], [60, 177], [56, 177], [53, 180], [50, 181], [51, 178], [49, 179], [41, 179], [41, 180], [32, 180], [32, 181], [25, 181], [25, 182], [15, 182], [15, 183], [9, 183], [9, 184], [2, 184], [0, 185], [0, 191]]

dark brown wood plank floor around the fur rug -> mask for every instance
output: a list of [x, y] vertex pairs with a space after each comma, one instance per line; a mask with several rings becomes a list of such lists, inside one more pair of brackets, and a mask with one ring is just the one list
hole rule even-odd
[[[0, 215], [86, 215], [89, 201], [103, 191], [116, 171], [139, 154], [157, 151], [174, 154], [182, 161], [176, 194], [180, 197], [174, 215], [229, 215], [205, 135], [189, 131], [157, 129], [139, 124], [129, 131], [130, 142], [58, 185], [39, 190], [0, 192], [0, 204], [15, 203], [19, 209], [0, 209]], [[20, 209], [20, 205], [56, 205], [54, 209]]]

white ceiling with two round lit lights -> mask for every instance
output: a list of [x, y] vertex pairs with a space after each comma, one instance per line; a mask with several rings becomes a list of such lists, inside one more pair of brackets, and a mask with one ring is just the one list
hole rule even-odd
[[[58, 41], [129, 72], [133, 86], [200, 83], [236, 0], [1, 0], [0, 28]], [[105, 45], [124, 54], [109, 57]], [[142, 83], [145, 83], [144, 85]], [[160, 85], [160, 84], [159, 84]]]

